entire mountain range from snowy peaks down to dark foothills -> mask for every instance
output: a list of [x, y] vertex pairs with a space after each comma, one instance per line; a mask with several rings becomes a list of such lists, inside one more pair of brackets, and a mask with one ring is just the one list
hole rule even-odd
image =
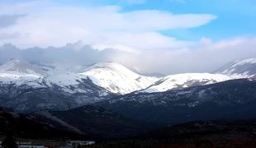
[[[2, 109], [2, 118], [15, 129], [32, 125], [47, 134], [54, 130], [55, 137], [92, 139], [197, 120], [255, 118], [255, 61], [230, 62], [212, 73], [147, 76], [116, 62], [64, 67], [11, 59], [0, 65], [0, 104], [13, 110]], [[17, 132], [31, 136], [25, 133]]]

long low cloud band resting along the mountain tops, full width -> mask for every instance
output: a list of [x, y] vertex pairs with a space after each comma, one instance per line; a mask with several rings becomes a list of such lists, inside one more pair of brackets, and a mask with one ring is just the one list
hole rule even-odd
[[183, 49], [149, 49], [138, 53], [134, 52], [137, 49], [119, 44], [91, 46], [81, 41], [47, 49], [19, 50], [7, 44], [0, 47], [0, 62], [10, 58], [25, 58], [31, 62], [57, 62], [69, 66], [119, 62], [143, 73], [159, 72], [168, 75], [183, 72], [214, 72], [228, 62], [256, 57], [256, 37], [237, 37], [218, 42], [202, 38], [197, 43], [187, 46]]

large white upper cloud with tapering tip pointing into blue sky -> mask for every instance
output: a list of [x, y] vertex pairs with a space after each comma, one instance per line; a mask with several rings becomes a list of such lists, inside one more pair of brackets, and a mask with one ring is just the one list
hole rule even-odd
[[[133, 49], [183, 48], [187, 41], [159, 31], [189, 29], [216, 19], [211, 14], [173, 14], [159, 10], [123, 12], [119, 6], [67, 6], [54, 2], [25, 2], [0, 7], [1, 13], [27, 14], [0, 33], [18, 32], [0, 44], [19, 47], [63, 46], [83, 40], [87, 44], [122, 44]], [[150, 17], [149, 17], [150, 16]], [[147, 45], [148, 44], [148, 45]]]

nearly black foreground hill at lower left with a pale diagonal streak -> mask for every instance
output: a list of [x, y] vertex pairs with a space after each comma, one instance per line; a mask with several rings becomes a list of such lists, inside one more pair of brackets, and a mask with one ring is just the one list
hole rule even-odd
[[135, 136], [149, 126], [100, 107], [17, 113], [0, 108], [0, 136], [40, 139], [109, 139]]

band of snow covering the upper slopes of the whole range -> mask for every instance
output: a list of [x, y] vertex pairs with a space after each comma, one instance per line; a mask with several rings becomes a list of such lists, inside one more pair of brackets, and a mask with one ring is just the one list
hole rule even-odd
[[[248, 69], [236, 72], [236, 68], [244, 64], [255, 64], [256, 58], [246, 59], [230, 65], [220, 74], [183, 73], [164, 77], [143, 76], [135, 73], [116, 62], [101, 62], [90, 67], [50, 67], [33, 65], [29, 62], [14, 59], [0, 66], [0, 81], [17, 86], [26, 84], [32, 87], [54, 87], [67, 93], [86, 93], [88, 90], [79, 88], [84, 79], [115, 94], [131, 92], [163, 92], [190, 86], [208, 85], [220, 81], [255, 76]], [[100, 92], [107, 95], [106, 92]]]

